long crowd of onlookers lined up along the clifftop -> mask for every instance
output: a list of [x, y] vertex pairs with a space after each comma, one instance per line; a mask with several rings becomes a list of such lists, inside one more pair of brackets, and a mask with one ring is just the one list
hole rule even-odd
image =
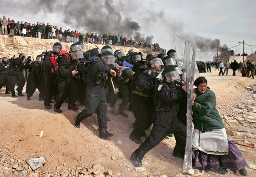
[[3, 34], [13, 34], [16, 36], [23, 37], [35, 37], [41, 39], [59, 39], [60, 41], [66, 43], [76, 43], [78, 41], [83, 43], [92, 43], [92, 44], [108, 44], [113, 46], [129, 46], [136, 48], [145, 48], [152, 49], [153, 52], [166, 53], [166, 49], [162, 49], [158, 43], [149, 44], [148, 42], [139, 41], [138, 43], [135, 39], [128, 39], [126, 36], [119, 34], [104, 33], [89, 33], [89, 32], [79, 32], [77, 30], [58, 28], [57, 26], [49, 25], [49, 23], [21, 23], [14, 20], [8, 20], [3, 16], [3, 19], [0, 18], [0, 33]]

